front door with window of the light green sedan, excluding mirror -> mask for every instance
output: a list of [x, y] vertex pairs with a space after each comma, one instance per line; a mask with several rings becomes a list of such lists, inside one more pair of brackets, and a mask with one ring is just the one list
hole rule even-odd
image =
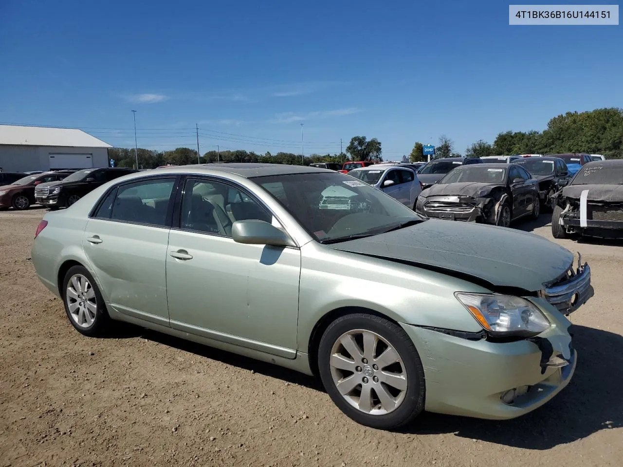
[[236, 220], [274, 224], [272, 214], [240, 187], [201, 177], [186, 179], [178, 214], [166, 255], [171, 327], [294, 358], [300, 250], [231, 238]]

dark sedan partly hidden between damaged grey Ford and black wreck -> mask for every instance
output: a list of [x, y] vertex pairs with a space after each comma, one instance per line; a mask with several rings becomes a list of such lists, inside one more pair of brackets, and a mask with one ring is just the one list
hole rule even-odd
[[569, 184], [571, 174], [567, 164], [561, 158], [551, 156], [541, 158], [522, 158], [516, 161], [538, 181], [541, 205], [553, 209], [552, 196]]

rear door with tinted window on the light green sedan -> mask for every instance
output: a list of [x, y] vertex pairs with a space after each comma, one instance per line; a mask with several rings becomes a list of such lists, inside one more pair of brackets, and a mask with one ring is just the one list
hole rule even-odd
[[169, 326], [165, 267], [175, 189], [174, 175], [112, 188], [82, 242], [108, 306], [163, 326]]

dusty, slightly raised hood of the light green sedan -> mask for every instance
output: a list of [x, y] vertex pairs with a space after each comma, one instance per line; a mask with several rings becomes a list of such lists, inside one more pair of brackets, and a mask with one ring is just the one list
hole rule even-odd
[[542, 290], [573, 263], [573, 253], [535, 234], [435, 219], [328, 246], [531, 292]]

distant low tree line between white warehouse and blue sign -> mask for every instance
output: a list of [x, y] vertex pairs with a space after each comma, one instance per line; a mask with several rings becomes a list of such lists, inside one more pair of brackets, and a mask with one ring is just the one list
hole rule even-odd
[[[278, 152], [272, 154], [255, 153], [244, 149], [233, 151], [207, 151], [197, 158], [197, 150], [191, 148], [176, 148], [172, 151], [153, 151], [151, 149], [138, 148], [138, 168], [155, 169], [166, 164], [185, 166], [188, 164], [208, 163], [267, 163], [267, 164], [290, 164], [295, 166], [319, 162], [343, 164], [348, 161], [375, 161], [381, 162], [381, 142], [376, 139], [367, 139], [365, 136], [354, 136], [346, 147], [346, 153], [341, 154], [293, 154]], [[115, 167], [135, 167], [136, 157], [134, 148], [110, 148], [108, 158], [115, 162]]]

